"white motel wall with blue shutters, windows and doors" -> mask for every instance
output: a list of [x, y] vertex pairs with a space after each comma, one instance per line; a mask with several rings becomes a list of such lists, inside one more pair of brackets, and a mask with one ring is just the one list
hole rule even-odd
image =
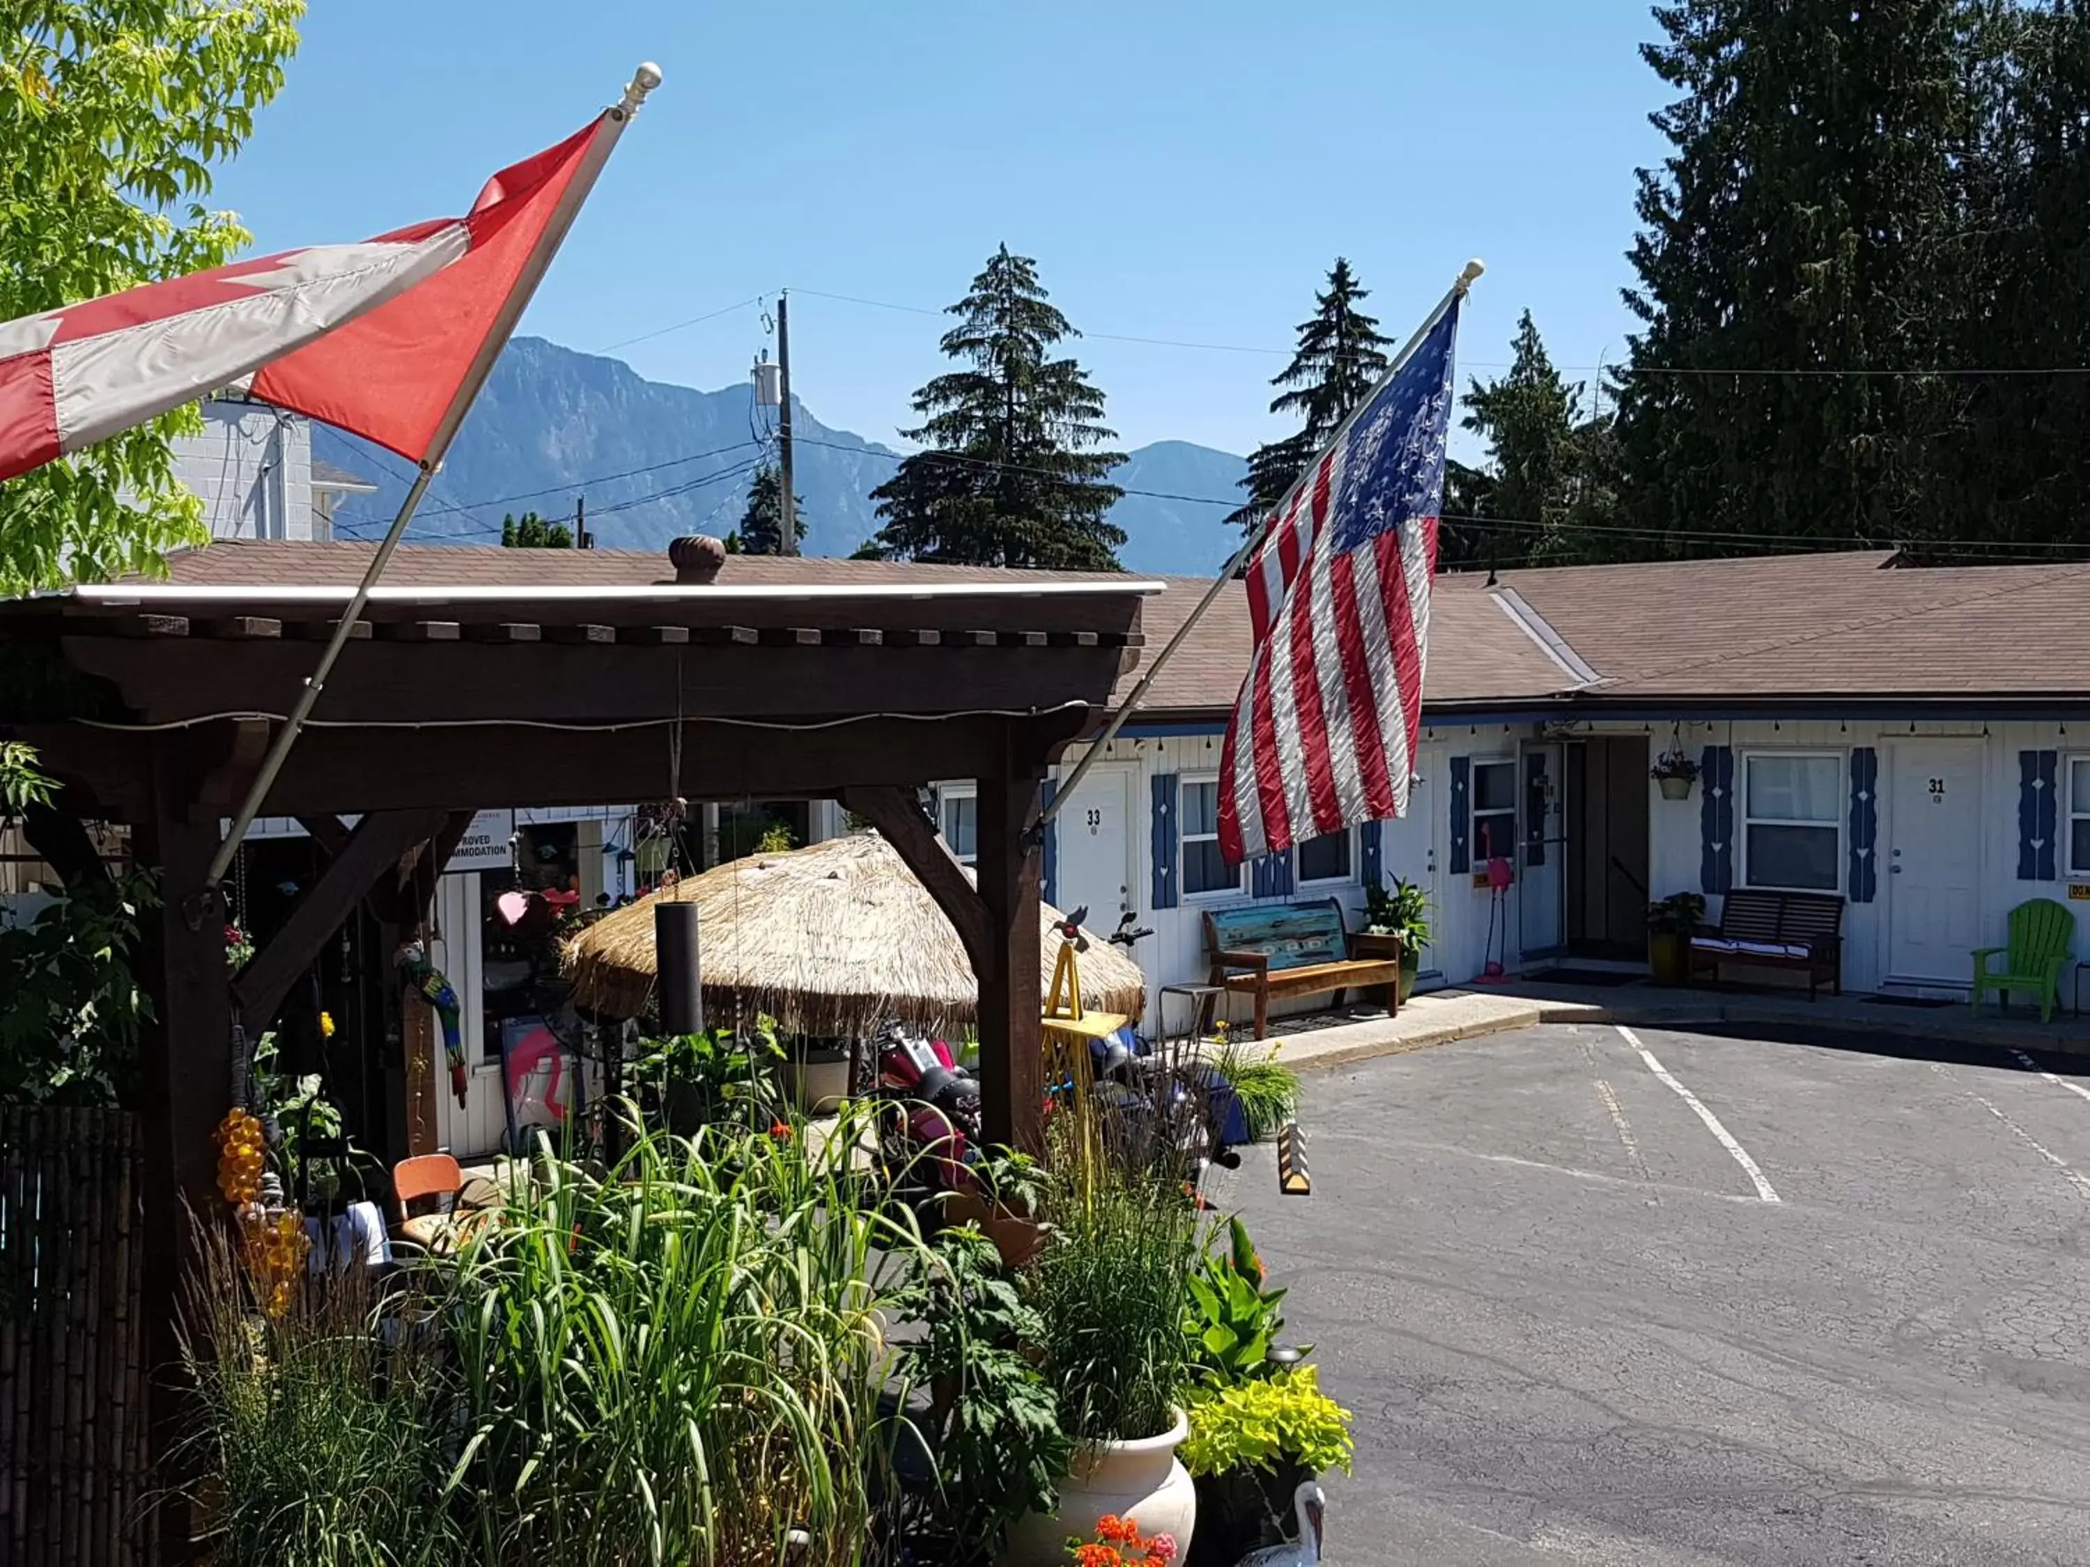
[[[1229, 875], [1206, 838], [1221, 735], [1156, 725], [1116, 740], [1062, 806], [1047, 896], [1087, 905], [1097, 934], [1120, 911], [1152, 926], [1137, 957], [1158, 992], [1204, 978], [1206, 911], [1333, 896], [1356, 930], [1373, 880], [1430, 894], [1423, 986], [1480, 980], [1490, 961], [1505, 976], [1636, 967], [1651, 896], [1699, 892], [1718, 919], [1728, 888], [1816, 890], [1845, 898], [1845, 988], [1965, 995], [1973, 949], [2000, 946], [2019, 903], [2090, 915], [2090, 717], [2073, 744], [2059, 719], [1438, 721], [1407, 819]], [[1687, 800], [1647, 773], [1672, 748], [1705, 769]], [[947, 829], [963, 827], [963, 794], [943, 790]], [[1509, 846], [1501, 894], [1484, 844]], [[2090, 932], [2075, 951], [2090, 957]]]

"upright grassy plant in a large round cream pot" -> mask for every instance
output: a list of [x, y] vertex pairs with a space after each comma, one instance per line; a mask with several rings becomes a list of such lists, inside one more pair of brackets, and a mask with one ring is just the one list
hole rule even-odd
[[1179, 1180], [1089, 1157], [1074, 1178], [1055, 1172], [1043, 1218], [1026, 1300], [1043, 1327], [1039, 1371], [1074, 1452], [1058, 1511], [1022, 1519], [1003, 1563], [1062, 1567], [1068, 1538], [1093, 1540], [1104, 1517], [1187, 1544], [1198, 1490], [1177, 1448], [1189, 1435], [1183, 1297], [1200, 1258], [1198, 1214]]

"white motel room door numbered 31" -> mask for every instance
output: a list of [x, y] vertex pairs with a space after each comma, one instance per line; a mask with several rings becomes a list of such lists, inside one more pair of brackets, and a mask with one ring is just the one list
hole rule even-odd
[[1967, 984], [1981, 944], [1981, 742], [1894, 746], [1887, 976]]

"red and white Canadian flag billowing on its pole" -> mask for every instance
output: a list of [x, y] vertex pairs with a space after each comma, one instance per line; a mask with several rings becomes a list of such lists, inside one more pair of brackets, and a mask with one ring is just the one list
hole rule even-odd
[[460, 393], [477, 391], [631, 107], [502, 169], [464, 217], [0, 324], [0, 481], [228, 387], [420, 462], [462, 418]]

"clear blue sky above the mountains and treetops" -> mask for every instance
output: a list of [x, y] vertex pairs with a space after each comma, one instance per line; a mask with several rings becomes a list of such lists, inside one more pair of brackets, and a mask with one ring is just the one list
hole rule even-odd
[[813, 290], [940, 307], [1007, 240], [1124, 445], [1246, 451], [1285, 432], [1277, 355], [1093, 334], [1283, 349], [1342, 253], [1404, 336], [1480, 255], [1461, 370], [1526, 305], [1563, 366], [1618, 361], [1651, 33], [1645, 0], [318, 0], [217, 201], [261, 249], [456, 213], [656, 59], [527, 332], [713, 389], [752, 305], [627, 338], [790, 286], [798, 395], [895, 441], [940, 324]]

